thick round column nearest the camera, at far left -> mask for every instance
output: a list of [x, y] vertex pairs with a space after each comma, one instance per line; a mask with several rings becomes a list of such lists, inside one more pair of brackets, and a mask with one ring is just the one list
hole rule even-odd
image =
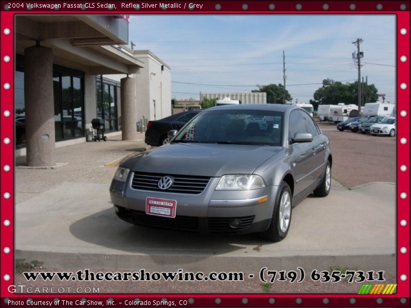
[[55, 165], [53, 54], [51, 48], [24, 50], [27, 165]]

